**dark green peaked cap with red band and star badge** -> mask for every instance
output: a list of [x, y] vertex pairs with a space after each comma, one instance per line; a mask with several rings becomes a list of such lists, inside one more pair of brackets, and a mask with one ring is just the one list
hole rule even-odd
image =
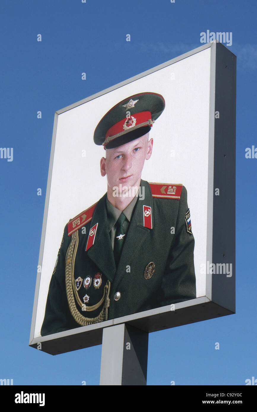
[[165, 108], [161, 94], [133, 94], [117, 103], [96, 126], [96, 145], [112, 149], [144, 136]]

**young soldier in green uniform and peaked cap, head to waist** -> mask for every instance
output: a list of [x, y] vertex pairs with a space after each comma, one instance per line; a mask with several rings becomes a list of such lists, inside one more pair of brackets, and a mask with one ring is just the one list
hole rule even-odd
[[194, 220], [191, 225], [185, 183], [172, 173], [165, 181], [142, 178], [161, 145], [161, 136], [156, 141], [151, 133], [163, 112], [165, 99], [155, 91], [124, 95], [87, 136], [102, 146], [102, 157], [90, 161], [100, 161], [95, 178], [105, 180], [106, 192], [64, 227], [42, 336], [196, 298]]

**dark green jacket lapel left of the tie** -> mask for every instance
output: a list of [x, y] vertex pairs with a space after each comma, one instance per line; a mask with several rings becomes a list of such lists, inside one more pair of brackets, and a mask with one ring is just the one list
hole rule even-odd
[[[112, 282], [116, 272], [110, 235], [107, 231], [106, 196], [98, 201], [90, 227], [98, 223], [94, 244], [85, 253], [93, 260], [100, 271]], [[89, 229], [90, 230], [90, 229]]]

